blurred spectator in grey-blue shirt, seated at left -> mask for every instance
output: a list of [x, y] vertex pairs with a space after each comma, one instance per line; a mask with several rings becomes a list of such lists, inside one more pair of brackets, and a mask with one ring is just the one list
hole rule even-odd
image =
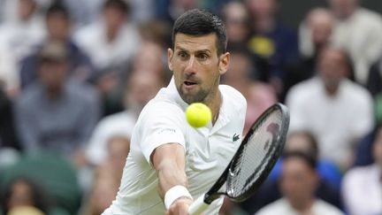
[[19, 135], [28, 153], [54, 150], [73, 157], [85, 147], [99, 117], [95, 90], [67, 77], [66, 48], [59, 42], [42, 47], [38, 81], [18, 99]]

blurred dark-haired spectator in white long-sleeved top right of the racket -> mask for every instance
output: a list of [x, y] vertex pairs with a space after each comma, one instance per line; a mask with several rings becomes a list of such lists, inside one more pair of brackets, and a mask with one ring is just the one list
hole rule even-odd
[[318, 58], [317, 77], [295, 85], [287, 95], [290, 130], [317, 136], [320, 157], [341, 170], [352, 165], [356, 142], [373, 127], [371, 95], [348, 81], [348, 65], [342, 50], [328, 47]]

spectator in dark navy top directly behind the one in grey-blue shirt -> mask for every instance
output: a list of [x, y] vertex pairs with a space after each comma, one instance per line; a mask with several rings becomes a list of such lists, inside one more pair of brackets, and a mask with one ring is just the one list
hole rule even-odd
[[38, 54], [44, 43], [62, 42], [69, 51], [69, 67], [71, 78], [77, 81], [88, 81], [94, 75], [94, 67], [88, 56], [79, 49], [71, 39], [71, 18], [65, 6], [59, 2], [51, 4], [45, 16], [47, 37], [40, 43], [37, 49], [21, 62], [20, 84], [26, 88], [36, 79]]

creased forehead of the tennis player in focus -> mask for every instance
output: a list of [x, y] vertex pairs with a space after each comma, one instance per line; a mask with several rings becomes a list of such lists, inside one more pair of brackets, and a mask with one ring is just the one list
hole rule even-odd
[[217, 50], [217, 36], [213, 33], [209, 35], [185, 35], [178, 33], [174, 39], [174, 50]]

